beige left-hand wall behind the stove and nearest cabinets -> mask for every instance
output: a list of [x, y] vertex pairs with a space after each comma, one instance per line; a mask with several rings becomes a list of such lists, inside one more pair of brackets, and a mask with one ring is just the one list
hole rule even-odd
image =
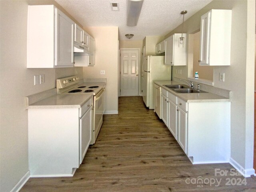
[[[25, 97], [55, 87], [56, 78], [82, 74], [82, 68], [26, 68], [28, 3], [54, 1], [0, 1], [0, 191], [9, 192], [28, 172], [28, 112]], [[63, 9], [61, 9], [64, 11]], [[34, 75], [45, 83], [34, 86]]]

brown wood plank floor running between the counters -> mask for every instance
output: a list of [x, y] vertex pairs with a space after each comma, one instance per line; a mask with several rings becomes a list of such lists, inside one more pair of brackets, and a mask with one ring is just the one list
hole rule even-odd
[[[215, 175], [214, 169], [229, 171]], [[74, 177], [30, 178], [21, 192], [255, 192], [254, 177], [230, 176], [226, 164], [192, 165], [142, 97], [120, 97], [119, 114], [104, 115], [100, 134]], [[192, 184], [198, 177], [202, 184]], [[208, 183], [211, 180], [214, 184]], [[220, 182], [218, 186], [216, 180]], [[186, 184], [189, 183], [189, 184]]]

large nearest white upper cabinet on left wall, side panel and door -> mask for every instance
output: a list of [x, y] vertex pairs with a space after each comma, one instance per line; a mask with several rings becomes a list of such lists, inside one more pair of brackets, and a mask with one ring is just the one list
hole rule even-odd
[[28, 6], [27, 68], [73, 67], [74, 22], [53, 5]]

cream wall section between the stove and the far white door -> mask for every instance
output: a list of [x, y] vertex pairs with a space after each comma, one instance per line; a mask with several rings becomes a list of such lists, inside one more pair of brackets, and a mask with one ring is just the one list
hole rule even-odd
[[[88, 27], [84, 30], [95, 38], [95, 66], [83, 68], [84, 78], [107, 78], [106, 113], [117, 113], [118, 27]], [[100, 70], [105, 70], [105, 75], [101, 75]]]

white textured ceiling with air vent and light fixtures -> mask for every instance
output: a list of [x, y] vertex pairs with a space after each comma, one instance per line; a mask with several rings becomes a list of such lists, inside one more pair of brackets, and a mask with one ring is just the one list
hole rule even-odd
[[[144, 0], [137, 26], [126, 26], [126, 0], [56, 0], [84, 27], [118, 26], [120, 40], [125, 34], [134, 34], [130, 40], [145, 36], [166, 35], [182, 24], [182, 10], [190, 18], [212, 0]], [[112, 11], [110, 2], [119, 2], [119, 11]]]

